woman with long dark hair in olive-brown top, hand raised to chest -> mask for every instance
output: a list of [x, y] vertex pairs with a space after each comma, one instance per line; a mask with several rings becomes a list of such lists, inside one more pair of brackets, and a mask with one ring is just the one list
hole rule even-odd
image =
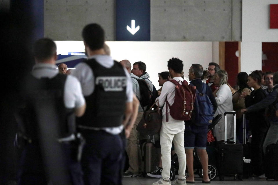
[[[251, 89], [247, 85], [248, 74], [240, 72], [237, 74], [237, 85], [239, 89], [233, 94], [233, 109], [236, 112], [237, 142], [243, 142], [243, 125], [241, 109], [245, 108], [244, 96], [250, 95]], [[248, 120], [246, 120], [246, 133], [248, 134]]]

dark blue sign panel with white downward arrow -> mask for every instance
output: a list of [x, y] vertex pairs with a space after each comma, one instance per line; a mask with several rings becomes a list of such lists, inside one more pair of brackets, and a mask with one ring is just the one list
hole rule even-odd
[[150, 0], [116, 0], [116, 40], [150, 40]]

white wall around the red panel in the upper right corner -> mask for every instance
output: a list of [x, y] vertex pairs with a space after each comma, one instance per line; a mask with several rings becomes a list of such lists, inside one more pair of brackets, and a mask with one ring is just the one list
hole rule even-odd
[[278, 42], [278, 29], [269, 29], [270, 4], [278, 0], [242, 1], [241, 71], [261, 70], [261, 42]]

